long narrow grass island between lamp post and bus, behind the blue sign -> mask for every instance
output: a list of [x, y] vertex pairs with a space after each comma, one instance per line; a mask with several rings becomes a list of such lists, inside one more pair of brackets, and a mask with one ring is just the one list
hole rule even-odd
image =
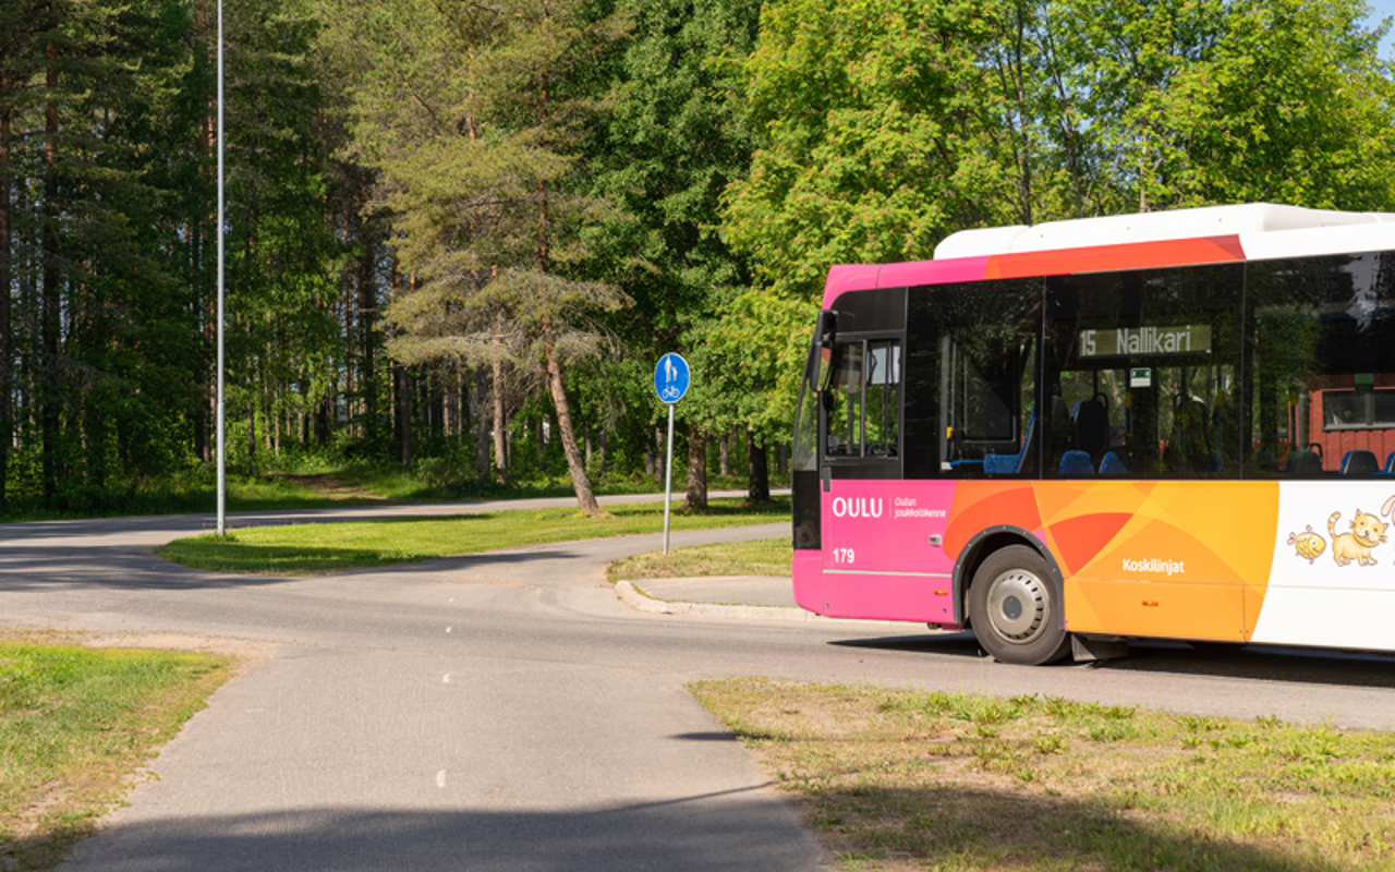
[[[578, 539], [658, 533], [664, 505], [611, 506], [604, 518], [576, 509], [509, 511], [453, 518], [354, 523], [315, 523], [236, 530], [180, 539], [156, 554], [186, 566], [215, 572], [310, 575], [414, 562], [434, 557], [478, 554], [498, 548]], [[674, 511], [672, 530], [698, 530], [790, 519], [790, 499], [746, 506], [714, 499], [707, 512]]]

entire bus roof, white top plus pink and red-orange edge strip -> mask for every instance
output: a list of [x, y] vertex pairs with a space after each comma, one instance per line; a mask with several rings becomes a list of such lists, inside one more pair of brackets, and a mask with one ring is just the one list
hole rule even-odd
[[1080, 218], [961, 230], [933, 261], [840, 265], [823, 307], [850, 290], [1071, 275], [1226, 261], [1395, 250], [1395, 213], [1334, 212], [1274, 204]]

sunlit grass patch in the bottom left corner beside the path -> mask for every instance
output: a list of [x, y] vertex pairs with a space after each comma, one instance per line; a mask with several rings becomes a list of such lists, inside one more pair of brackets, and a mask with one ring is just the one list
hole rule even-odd
[[0, 869], [57, 864], [230, 668], [216, 654], [0, 632]]

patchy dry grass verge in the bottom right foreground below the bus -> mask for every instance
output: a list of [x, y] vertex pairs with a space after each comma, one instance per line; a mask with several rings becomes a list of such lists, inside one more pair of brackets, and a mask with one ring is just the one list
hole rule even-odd
[[1375, 871], [1395, 735], [774, 682], [693, 692], [844, 869]]

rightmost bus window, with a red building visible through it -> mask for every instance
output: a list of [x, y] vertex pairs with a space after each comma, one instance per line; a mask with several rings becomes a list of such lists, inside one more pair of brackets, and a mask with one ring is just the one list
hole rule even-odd
[[1247, 477], [1395, 472], [1395, 257], [1250, 266]]

